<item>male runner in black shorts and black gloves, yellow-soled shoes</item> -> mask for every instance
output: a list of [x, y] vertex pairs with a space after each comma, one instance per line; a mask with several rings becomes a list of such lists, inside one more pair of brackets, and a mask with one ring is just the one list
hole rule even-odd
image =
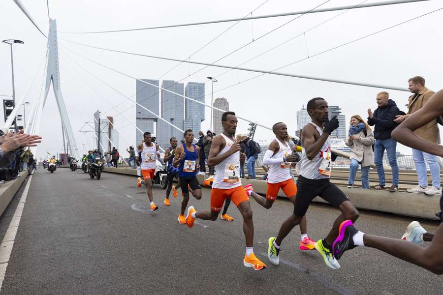
[[[312, 121], [302, 130], [302, 155], [297, 163], [298, 180], [294, 213], [282, 224], [277, 238], [269, 239], [268, 257], [275, 265], [279, 264], [279, 251], [283, 239], [303, 219], [311, 201], [319, 196], [342, 214], [335, 220], [329, 234], [316, 242], [317, 251], [323, 256], [327, 266], [339, 269], [340, 265], [332, 255], [332, 242], [338, 235], [340, 224], [347, 220], [357, 220], [358, 211], [348, 197], [329, 181], [331, 175], [331, 140], [329, 135], [339, 127], [336, 116], [328, 121], [328, 103], [321, 97], [311, 99], [307, 105]], [[323, 127], [324, 123], [324, 127]]]

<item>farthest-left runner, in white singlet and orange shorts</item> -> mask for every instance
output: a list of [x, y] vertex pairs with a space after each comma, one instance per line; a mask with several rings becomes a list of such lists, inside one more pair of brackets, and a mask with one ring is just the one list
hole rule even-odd
[[137, 186], [141, 187], [142, 184], [146, 186], [149, 202], [151, 203], [151, 211], [158, 209], [158, 206], [154, 204], [152, 199], [152, 178], [156, 171], [157, 157], [160, 157], [158, 151], [158, 145], [152, 142], [151, 132], [143, 133], [144, 143], [138, 145], [137, 149], [141, 155], [141, 173], [143, 180], [137, 178]]

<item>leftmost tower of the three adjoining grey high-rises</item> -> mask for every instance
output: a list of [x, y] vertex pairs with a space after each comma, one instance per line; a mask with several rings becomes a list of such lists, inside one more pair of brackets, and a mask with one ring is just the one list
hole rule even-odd
[[[156, 115], [159, 115], [159, 93], [158, 89], [158, 80], [149, 80], [149, 79], [141, 79], [155, 86], [143, 83], [141, 81], [136, 80], [135, 89], [136, 96], [135, 101], [140, 105], [144, 106], [151, 112]], [[157, 86], [157, 87], [156, 87]], [[157, 133], [157, 120], [158, 118], [146, 111], [139, 105], [135, 106], [135, 125], [137, 128], [142, 130], [143, 132], [149, 131], [152, 134]], [[141, 144], [141, 140], [143, 139], [143, 134], [139, 130], [135, 130], [135, 146]]]

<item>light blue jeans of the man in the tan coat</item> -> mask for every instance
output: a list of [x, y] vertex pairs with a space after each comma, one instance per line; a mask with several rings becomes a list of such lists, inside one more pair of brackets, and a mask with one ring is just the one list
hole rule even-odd
[[[412, 148], [412, 159], [414, 160], [415, 170], [417, 171], [418, 185], [428, 186], [428, 169], [431, 171], [432, 185], [440, 188], [440, 166], [437, 157], [427, 152]], [[426, 160], [426, 162], [425, 162]]]

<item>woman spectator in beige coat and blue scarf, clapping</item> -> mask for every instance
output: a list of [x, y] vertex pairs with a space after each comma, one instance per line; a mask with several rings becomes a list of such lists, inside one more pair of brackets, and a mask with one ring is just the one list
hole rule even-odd
[[361, 187], [369, 189], [369, 168], [374, 165], [374, 134], [368, 123], [359, 115], [354, 115], [350, 119], [349, 137], [346, 145], [350, 147], [349, 152], [349, 178], [348, 187], [354, 186], [358, 165], [361, 165]]

